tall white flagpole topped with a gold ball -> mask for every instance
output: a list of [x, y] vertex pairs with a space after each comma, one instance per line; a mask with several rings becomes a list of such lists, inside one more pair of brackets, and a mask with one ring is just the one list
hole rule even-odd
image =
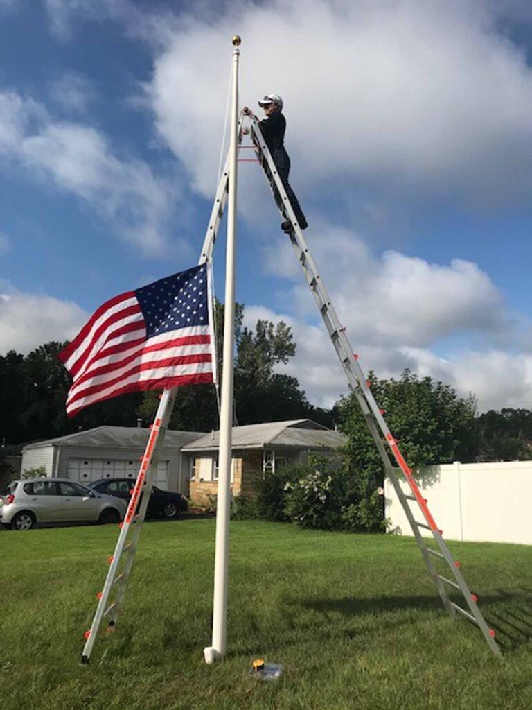
[[231, 434], [233, 428], [233, 364], [235, 346], [235, 232], [236, 168], [238, 152], [238, 62], [240, 37], [233, 37], [233, 86], [231, 93], [231, 143], [229, 145], [229, 190], [227, 214], [226, 291], [223, 321], [223, 369], [221, 383], [220, 448], [218, 452], [218, 501], [216, 504], [216, 551], [212, 646], [204, 648], [207, 663], [226, 652], [229, 548], [229, 503], [231, 498]]

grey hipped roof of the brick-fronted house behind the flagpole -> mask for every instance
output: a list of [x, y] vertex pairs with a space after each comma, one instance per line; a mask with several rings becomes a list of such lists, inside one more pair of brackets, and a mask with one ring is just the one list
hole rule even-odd
[[[326, 429], [310, 419], [233, 427], [231, 438], [233, 449], [262, 449], [265, 446], [337, 449], [346, 442], [340, 432]], [[218, 449], [219, 443], [220, 432], [212, 432], [187, 444], [183, 451], [211, 451]]]

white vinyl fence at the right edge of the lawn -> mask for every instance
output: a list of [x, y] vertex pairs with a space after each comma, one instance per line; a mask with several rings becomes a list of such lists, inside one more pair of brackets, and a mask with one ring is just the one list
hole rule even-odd
[[[532, 545], [532, 461], [442, 464], [416, 478], [436, 524], [448, 540], [519, 542]], [[408, 484], [401, 480], [404, 491]], [[391, 530], [412, 535], [392, 484], [384, 484]], [[423, 522], [412, 503], [414, 518]], [[418, 512], [419, 511], [419, 512]], [[426, 530], [425, 535], [431, 535]], [[532, 559], [531, 559], [532, 562]]]

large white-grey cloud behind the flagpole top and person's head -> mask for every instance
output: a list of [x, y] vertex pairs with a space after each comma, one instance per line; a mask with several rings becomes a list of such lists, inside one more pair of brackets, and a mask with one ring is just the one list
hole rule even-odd
[[216, 23], [182, 18], [149, 87], [157, 128], [199, 192], [211, 194], [216, 174], [237, 28], [242, 102], [258, 111], [264, 92], [284, 97], [303, 192], [341, 179], [473, 204], [529, 199], [530, 180], [520, 178], [532, 169], [532, 72], [525, 53], [497, 34], [489, 4], [226, 8]]

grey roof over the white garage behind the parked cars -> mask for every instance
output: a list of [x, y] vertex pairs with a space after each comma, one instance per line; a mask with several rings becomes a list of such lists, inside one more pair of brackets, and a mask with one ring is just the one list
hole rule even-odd
[[[45, 441], [33, 442], [23, 447], [23, 452], [28, 449], [38, 449], [47, 446], [66, 447], [94, 447], [111, 449], [144, 449], [148, 443], [149, 429], [140, 427], [96, 427], [75, 434], [67, 434], [64, 437], [55, 439], [45, 439]], [[204, 432], [181, 432], [167, 430], [165, 435], [165, 448], [179, 449], [184, 444], [189, 444], [204, 435]]]

